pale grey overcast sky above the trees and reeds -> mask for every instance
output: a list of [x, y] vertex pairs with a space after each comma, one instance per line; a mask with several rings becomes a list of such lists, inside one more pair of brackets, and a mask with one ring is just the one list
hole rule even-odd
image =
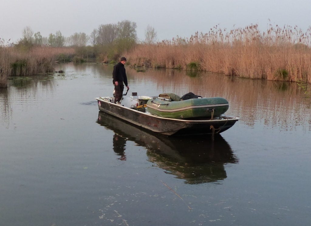
[[[269, 22], [270, 19], [270, 22]], [[158, 39], [190, 37], [207, 33], [218, 24], [221, 29], [258, 24], [297, 25], [306, 31], [311, 25], [310, 0], [0, 0], [0, 38], [16, 42], [29, 26], [43, 37], [61, 31], [89, 35], [100, 24], [130, 20], [137, 24], [137, 36], [145, 39], [149, 24]]]

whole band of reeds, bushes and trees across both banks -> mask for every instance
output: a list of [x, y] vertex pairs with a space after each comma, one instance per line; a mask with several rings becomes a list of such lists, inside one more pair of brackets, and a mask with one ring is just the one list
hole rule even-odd
[[42, 37], [26, 27], [16, 44], [5, 45], [0, 39], [0, 86], [5, 87], [11, 75], [53, 71], [57, 61], [116, 63], [122, 55], [132, 67], [311, 83], [311, 27], [303, 32], [297, 26], [269, 25], [262, 32], [257, 24], [232, 30], [215, 26], [208, 33], [162, 41], [149, 25], [145, 40], [138, 41], [136, 27], [135, 22], [123, 20], [101, 24], [90, 35], [80, 32], [68, 38], [60, 31]]

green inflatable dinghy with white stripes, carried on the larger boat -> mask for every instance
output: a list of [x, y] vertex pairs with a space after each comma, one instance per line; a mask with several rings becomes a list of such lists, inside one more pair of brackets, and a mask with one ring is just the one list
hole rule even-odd
[[148, 111], [165, 118], [199, 118], [219, 117], [229, 108], [229, 103], [222, 97], [195, 98], [181, 101], [171, 101], [154, 97], [147, 102]]

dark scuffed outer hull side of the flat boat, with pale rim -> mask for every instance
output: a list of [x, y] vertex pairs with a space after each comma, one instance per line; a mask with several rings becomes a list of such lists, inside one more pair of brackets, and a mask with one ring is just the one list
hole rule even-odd
[[97, 100], [100, 111], [118, 117], [136, 126], [140, 126], [146, 130], [151, 130], [163, 135], [221, 133], [229, 129], [239, 120], [237, 117], [226, 116], [214, 118], [213, 120], [204, 118], [200, 120], [164, 118], [111, 103], [109, 97], [96, 97], [95, 99]]

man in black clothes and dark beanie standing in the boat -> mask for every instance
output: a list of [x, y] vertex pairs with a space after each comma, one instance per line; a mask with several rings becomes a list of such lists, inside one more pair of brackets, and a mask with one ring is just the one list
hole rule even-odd
[[[126, 77], [124, 64], [126, 63], [126, 58], [123, 56], [120, 62], [114, 65], [114, 70], [112, 72], [112, 82], [114, 83], [115, 98], [114, 103], [120, 102], [123, 96], [124, 85], [128, 87], [128, 78]], [[124, 82], [124, 85], [123, 85]]]

